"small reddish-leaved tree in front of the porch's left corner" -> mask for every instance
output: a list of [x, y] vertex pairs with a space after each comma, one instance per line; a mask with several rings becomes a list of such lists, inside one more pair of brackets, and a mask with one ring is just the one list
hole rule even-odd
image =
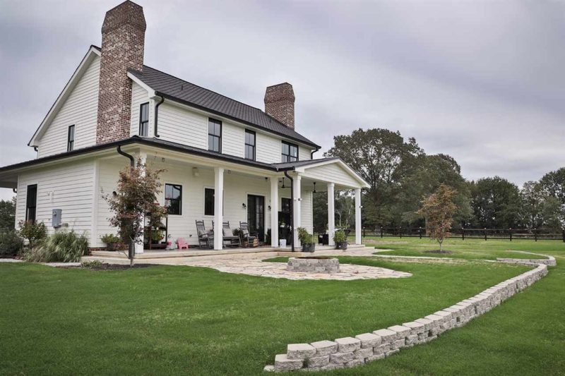
[[138, 159], [135, 166], [119, 172], [115, 194], [102, 196], [114, 214], [109, 223], [118, 228], [121, 241], [129, 244], [130, 265], [133, 265], [135, 243], [143, 242], [145, 214], [150, 213], [152, 219], [167, 216], [167, 208], [157, 203], [157, 195], [162, 192], [159, 175], [163, 171], [149, 169]]

